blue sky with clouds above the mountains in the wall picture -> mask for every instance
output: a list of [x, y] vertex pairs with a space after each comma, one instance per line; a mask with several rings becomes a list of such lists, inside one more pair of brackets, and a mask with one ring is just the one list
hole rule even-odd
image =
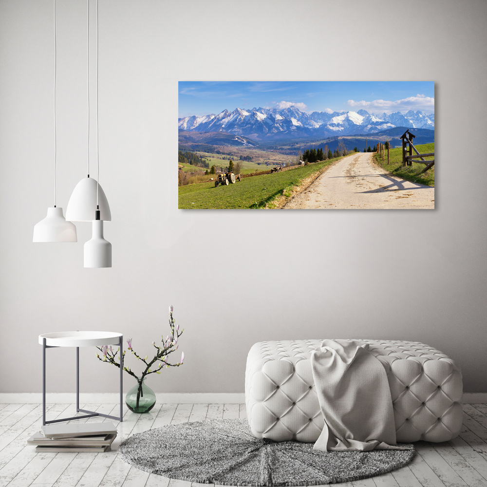
[[433, 81], [180, 81], [179, 117], [251, 109], [434, 112]]

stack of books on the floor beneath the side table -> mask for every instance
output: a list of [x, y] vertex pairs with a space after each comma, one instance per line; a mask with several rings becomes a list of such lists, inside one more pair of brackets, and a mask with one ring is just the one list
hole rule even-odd
[[107, 451], [117, 435], [113, 423], [52, 423], [27, 440], [36, 451]]

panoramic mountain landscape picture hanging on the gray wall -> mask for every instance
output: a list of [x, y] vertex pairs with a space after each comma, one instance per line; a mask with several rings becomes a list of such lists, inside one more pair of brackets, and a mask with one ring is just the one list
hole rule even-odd
[[433, 209], [434, 82], [179, 82], [179, 208]]

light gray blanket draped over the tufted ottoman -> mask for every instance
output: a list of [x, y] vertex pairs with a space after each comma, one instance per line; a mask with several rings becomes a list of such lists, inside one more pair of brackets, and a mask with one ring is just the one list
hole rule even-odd
[[386, 371], [368, 348], [362, 340], [323, 340], [311, 354], [325, 420], [315, 450], [405, 449], [396, 445]]

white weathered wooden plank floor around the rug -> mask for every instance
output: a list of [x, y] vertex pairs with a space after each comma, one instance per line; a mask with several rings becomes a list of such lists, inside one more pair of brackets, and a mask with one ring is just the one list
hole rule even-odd
[[[116, 415], [118, 405], [85, 404], [83, 409]], [[446, 443], [416, 443], [410, 465], [386, 475], [343, 487], [487, 487], [487, 405], [464, 405], [460, 435]], [[73, 404], [50, 404], [47, 418], [75, 415]], [[180, 480], [149, 474], [123, 462], [120, 442], [130, 434], [168, 424], [214, 418], [244, 418], [244, 404], [162, 404], [146, 414], [126, 411], [117, 424], [112, 451], [105, 453], [36, 453], [26, 444], [39, 431], [42, 406], [0, 404], [0, 487], [197, 487]], [[102, 421], [101, 417], [77, 422]], [[104, 419], [104, 421], [112, 421]], [[208, 486], [207, 484], [205, 484]], [[211, 485], [210, 485], [211, 487]]]

